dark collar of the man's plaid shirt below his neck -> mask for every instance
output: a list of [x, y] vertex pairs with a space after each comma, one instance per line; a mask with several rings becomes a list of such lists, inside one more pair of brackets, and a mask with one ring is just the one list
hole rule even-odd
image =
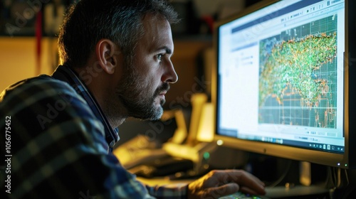
[[85, 84], [78, 78], [78, 75], [71, 70], [69, 67], [60, 65], [53, 72], [52, 77], [56, 78], [57, 80], [62, 80], [63, 82], [67, 82], [74, 90], [78, 93], [78, 95], [82, 96], [86, 102], [88, 102], [90, 109], [104, 125], [105, 128], [105, 139], [108, 142], [110, 148], [112, 148], [115, 143], [120, 139], [118, 134], [118, 128], [112, 129], [110, 126], [108, 119], [103, 114], [102, 109], [96, 102], [95, 98], [88, 90]]

